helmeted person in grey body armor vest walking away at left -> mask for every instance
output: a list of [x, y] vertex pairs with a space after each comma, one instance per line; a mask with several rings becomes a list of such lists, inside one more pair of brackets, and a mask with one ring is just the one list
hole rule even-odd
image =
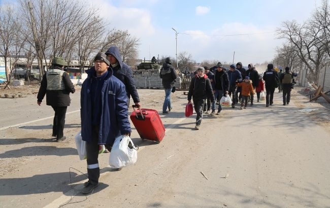
[[67, 137], [63, 136], [65, 124], [65, 114], [70, 106], [70, 92], [75, 93], [70, 77], [63, 71], [65, 60], [61, 57], [54, 57], [52, 66], [43, 76], [38, 92], [37, 104], [40, 106], [46, 94], [46, 105], [51, 106], [55, 111], [53, 120], [53, 133], [56, 142], [64, 141]]

